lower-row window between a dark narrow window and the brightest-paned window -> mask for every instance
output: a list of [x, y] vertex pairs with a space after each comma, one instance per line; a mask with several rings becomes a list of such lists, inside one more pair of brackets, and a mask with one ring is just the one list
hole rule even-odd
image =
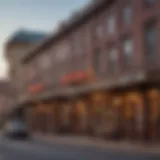
[[108, 53], [108, 70], [109, 72], [115, 72], [117, 70], [118, 62], [118, 50], [111, 48]]

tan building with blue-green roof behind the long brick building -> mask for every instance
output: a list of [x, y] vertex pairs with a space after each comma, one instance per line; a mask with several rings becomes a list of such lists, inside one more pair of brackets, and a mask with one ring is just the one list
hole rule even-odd
[[9, 64], [9, 79], [15, 91], [15, 103], [20, 99], [23, 90], [23, 81], [21, 79], [25, 69], [20, 63], [21, 57], [25, 55], [26, 51], [37, 46], [45, 36], [46, 34], [43, 32], [19, 29], [6, 41], [4, 47], [5, 57]]

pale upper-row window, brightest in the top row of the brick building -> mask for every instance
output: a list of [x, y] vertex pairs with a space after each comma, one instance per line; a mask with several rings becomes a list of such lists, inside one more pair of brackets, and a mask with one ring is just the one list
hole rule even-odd
[[116, 18], [114, 14], [110, 14], [107, 20], [108, 33], [114, 33], [116, 30]]

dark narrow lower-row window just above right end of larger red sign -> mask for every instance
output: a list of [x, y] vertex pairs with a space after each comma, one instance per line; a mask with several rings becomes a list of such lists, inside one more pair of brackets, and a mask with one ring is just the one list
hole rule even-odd
[[93, 54], [93, 68], [96, 73], [101, 71], [101, 52], [99, 49], [96, 49]]

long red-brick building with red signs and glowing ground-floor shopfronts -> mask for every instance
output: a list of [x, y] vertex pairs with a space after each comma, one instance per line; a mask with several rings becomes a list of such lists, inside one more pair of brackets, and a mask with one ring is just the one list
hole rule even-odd
[[160, 138], [159, 8], [156, 0], [93, 1], [23, 56], [30, 126]]

